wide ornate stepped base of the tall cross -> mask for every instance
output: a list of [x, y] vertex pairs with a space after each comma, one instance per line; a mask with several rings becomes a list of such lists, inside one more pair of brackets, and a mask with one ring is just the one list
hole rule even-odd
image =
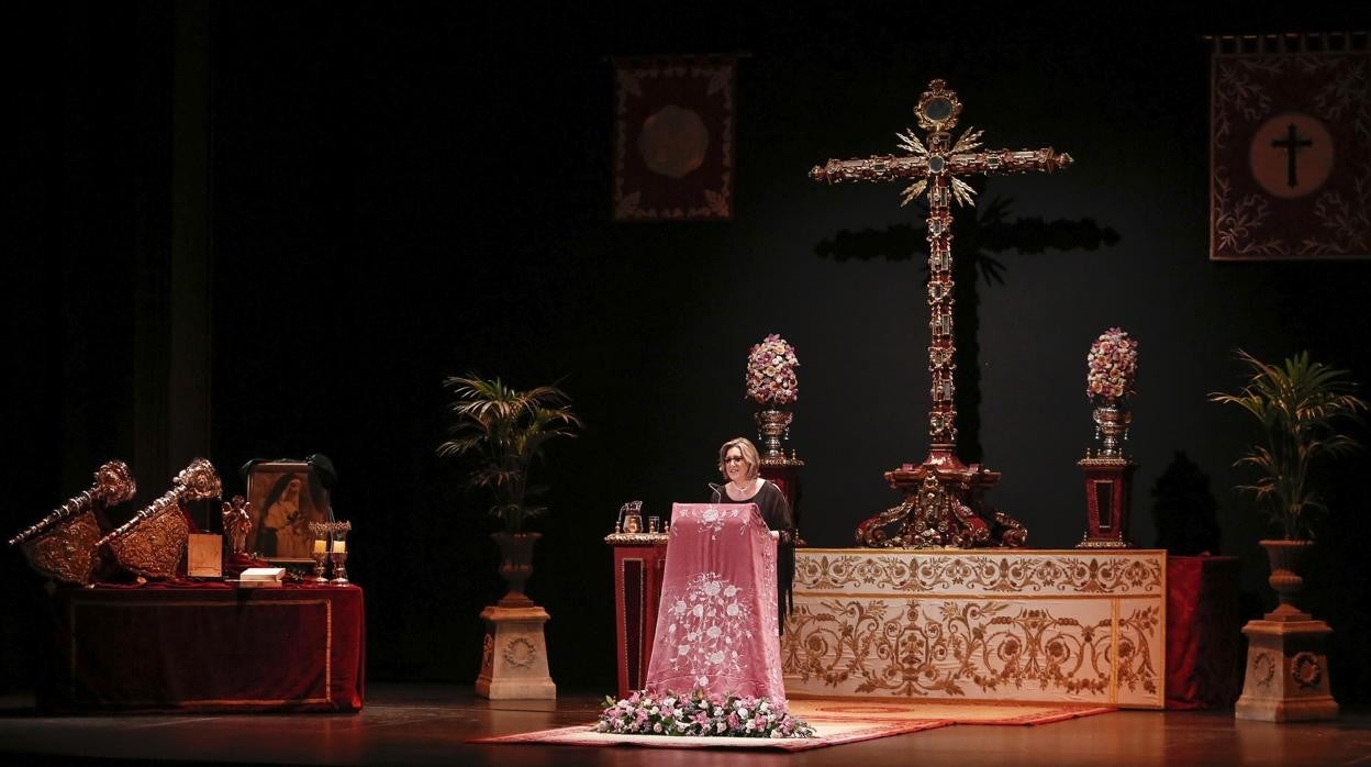
[[872, 549], [983, 549], [1023, 546], [1024, 526], [984, 504], [999, 472], [965, 465], [951, 445], [934, 445], [920, 465], [886, 472], [903, 501], [857, 526], [857, 543]]

